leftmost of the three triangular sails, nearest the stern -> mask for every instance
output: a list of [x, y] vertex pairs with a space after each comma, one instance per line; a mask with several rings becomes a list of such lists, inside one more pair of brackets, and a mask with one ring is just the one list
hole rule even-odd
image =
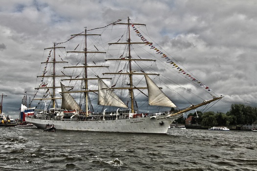
[[[62, 92], [67, 91], [65, 86], [61, 83]], [[80, 110], [79, 105], [77, 102], [73, 99], [73, 97], [70, 95], [70, 93], [62, 93], [62, 107], [67, 110]]]

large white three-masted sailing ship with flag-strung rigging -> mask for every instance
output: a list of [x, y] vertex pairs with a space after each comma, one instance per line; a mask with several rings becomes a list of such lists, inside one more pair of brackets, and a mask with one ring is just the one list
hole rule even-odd
[[[30, 102], [37, 104], [35, 114], [26, 121], [42, 129], [53, 124], [64, 130], [165, 134], [185, 112], [210, 107], [223, 97], [179, 67], [143, 35], [145, 28], [128, 17], [85, 28], [46, 48]], [[177, 93], [187, 88], [171, 80], [172, 72], [211, 99], [202, 96], [200, 103], [178, 108], [176, 102], [185, 97]]]

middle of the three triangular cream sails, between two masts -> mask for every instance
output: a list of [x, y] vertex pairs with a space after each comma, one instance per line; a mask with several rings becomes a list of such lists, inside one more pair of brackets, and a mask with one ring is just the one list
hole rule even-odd
[[108, 88], [98, 77], [98, 105], [128, 108], [113, 90]]

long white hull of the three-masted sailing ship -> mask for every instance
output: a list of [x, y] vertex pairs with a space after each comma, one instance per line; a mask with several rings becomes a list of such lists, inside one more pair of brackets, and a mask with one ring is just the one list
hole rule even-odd
[[181, 117], [182, 114], [171, 116], [159, 115], [154, 117], [141, 117], [130, 119], [117, 119], [105, 121], [61, 121], [46, 120], [27, 117], [26, 121], [37, 128], [45, 128], [47, 124], [54, 124], [55, 128], [63, 130], [83, 130], [101, 132], [131, 132], [131, 133], [167, 133], [170, 124]]

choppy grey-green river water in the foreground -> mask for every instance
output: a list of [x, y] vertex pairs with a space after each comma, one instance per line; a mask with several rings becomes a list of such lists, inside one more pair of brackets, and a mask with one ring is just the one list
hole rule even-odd
[[257, 171], [257, 132], [0, 128], [0, 171]]

